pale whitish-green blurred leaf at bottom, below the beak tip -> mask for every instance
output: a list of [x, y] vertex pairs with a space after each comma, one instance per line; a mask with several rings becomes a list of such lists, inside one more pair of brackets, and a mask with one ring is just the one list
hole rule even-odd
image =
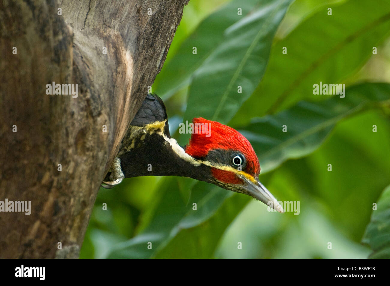
[[[277, 179], [284, 180], [279, 172], [277, 173]], [[287, 189], [291, 187], [295, 186], [289, 184]], [[318, 201], [302, 197], [299, 200], [301, 201], [299, 215], [294, 215], [292, 212], [283, 215], [270, 213], [267, 208], [259, 208], [257, 202], [251, 201], [227, 229], [216, 250], [215, 258], [362, 259], [367, 257], [369, 249], [340, 233], [329, 217], [324, 215], [323, 206]], [[330, 241], [332, 250], [327, 247]], [[237, 242], [242, 243], [242, 249], [237, 249]]]

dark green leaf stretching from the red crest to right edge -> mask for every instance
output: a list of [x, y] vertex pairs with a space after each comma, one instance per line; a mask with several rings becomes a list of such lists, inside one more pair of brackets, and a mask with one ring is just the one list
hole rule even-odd
[[275, 115], [253, 119], [240, 132], [256, 151], [261, 172], [268, 172], [287, 159], [313, 152], [341, 119], [381, 103], [388, 105], [389, 94], [390, 85], [386, 83], [355, 85], [346, 90], [345, 98], [335, 96], [318, 103], [301, 101]]

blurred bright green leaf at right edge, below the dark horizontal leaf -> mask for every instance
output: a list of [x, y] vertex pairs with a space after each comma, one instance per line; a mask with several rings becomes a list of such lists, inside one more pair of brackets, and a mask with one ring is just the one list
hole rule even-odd
[[[343, 120], [332, 137], [305, 158], [306, 167], [294, 163], [300, 160], [282, 165], [291, 170], [301, 194], [326, 204], [335, 225], [356, 242], [361, 241], [369, 222], [372, 203], [390, 184], [390, 178], [384, 176], [390, 174], [390, 160], [383, 160], [390, 158], [390, 144], [381, 143], [390, 142], [390, 121], [383, 115], [372, 109]], [[378, 132], [373, 132], [374, 124]], [[330, 163], [332, 172], [328, 171]]]

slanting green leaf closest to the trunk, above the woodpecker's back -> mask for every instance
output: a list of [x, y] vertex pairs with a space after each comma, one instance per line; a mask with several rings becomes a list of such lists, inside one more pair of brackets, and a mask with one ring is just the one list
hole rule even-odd
[[[167, 99], [174, 92], [187, 86], [193, 72], [199, 68], [218, 44], [223, 40], [223, 31], [242, 20], [259, 3], [269, 0], [235, 0], [208, 16], [196, 30], [181, 44], [172, 59], [164, 64], [157, 75], [154, 85], [161, 98]], [[238, 15], [238, 7], [242, 15]], [[197, 54], [193, 54], [193, 47], [197, 47]]]

